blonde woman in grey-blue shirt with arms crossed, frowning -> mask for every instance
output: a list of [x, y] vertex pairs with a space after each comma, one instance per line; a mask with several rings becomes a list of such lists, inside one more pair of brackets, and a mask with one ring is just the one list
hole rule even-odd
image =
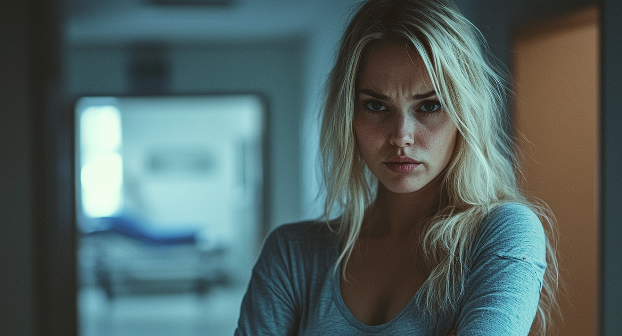
[[269, 235], [236, 334], [545, 334], [552, 220], [519, 191], [483, 46], [449, 2], [361, 4], [327, 84], [327, 220]]

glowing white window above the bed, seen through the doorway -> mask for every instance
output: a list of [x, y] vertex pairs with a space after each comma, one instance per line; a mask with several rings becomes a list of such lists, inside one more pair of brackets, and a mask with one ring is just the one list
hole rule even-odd
[[114, 106], [90, 106], [80, 114], [81, 198], [85, 215], [108, 217], [123, 205], [121, 114]]

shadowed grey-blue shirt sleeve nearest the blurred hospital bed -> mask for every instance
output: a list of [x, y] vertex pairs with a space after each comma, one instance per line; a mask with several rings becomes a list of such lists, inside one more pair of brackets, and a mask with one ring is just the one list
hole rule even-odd
[[283, 231], [274, 230], [264, 242], [244, 294], [236, 336], [294, 335], [297, 329], [290, 255]]

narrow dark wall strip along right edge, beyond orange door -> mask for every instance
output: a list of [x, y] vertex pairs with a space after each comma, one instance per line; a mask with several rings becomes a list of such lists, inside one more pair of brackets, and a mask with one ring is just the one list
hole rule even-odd
[[622, 1], [601, 5], [601, 329], [622, 330]]

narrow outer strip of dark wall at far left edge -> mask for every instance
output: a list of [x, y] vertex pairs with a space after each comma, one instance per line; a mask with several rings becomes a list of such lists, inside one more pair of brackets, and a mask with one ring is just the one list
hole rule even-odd
[[26, 2], [0, 5], [0, 334], [16, 336], [35, 317], [27, 17]]

